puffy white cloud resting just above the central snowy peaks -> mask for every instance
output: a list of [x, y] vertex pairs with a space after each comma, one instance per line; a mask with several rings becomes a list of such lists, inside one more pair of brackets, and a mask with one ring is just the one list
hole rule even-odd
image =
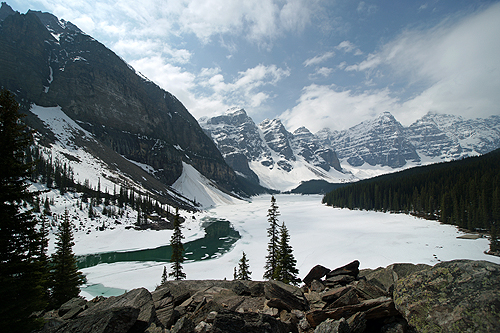
[[325, 127], [342, 130], [398, 107], [398, 100], [387, 89], [355, 93], [335, 88], [315, 84], [305, 87], [297, 105], [281, 114], [280, 119], [291, 131], [300, 126], [312, 132]]

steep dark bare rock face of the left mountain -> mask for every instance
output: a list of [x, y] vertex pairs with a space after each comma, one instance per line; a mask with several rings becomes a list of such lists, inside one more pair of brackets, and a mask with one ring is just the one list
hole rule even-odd
[[9, 9], [2, 5], [0, 15], [1, 86], [29, 103], [61, 106], [119, 154], [154, 167], [168, 185], [185, 161], [236, 190], [236, 175], [175, 96], [70, 22]]

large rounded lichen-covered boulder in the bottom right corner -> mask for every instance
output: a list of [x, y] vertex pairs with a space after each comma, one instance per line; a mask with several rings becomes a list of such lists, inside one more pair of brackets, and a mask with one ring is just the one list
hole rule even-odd
[[400, 279], [397, 309], [418, 332], [500, 331], [500, 266], [443, 262]]

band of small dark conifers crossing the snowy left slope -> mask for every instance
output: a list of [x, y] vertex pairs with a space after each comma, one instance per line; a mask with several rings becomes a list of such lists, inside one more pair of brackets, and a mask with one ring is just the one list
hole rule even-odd
[[[143, 224], [147, 220], [147, 216], [156, 213], [160, 216], [173, 219], [173, 214], [170, 212], [168, 205], [162, 205], [157, 200], [149, 195], [143, 195], [134, 189], [121, 186], [116, 190], [116, 185], [113, 187], [113, 193], [110, 193], [106, 188], [101, 189], [100, 179], [94, 187], [88, 179], [83, 183], [76, 181], [74, 171], [67, 163], [61, 162], [59, 159], [54, 159], [50, 151], [45, 151], [43, 147], [31, 145], [25, 152], [25, 162], [32, 165], [30, 180], [45, 184], [47, 188], [58, 189], [61, 195], [67, 192], [81, 193], [80, 208], [85, 205], [89, 211], [89, 217], [96, 217], [95, 207], [103, 205], [103, 214], [117, 215], [122, 214], [126, 206], [141, 212], [138, 215], [138, 223]], [[41, 202], [39, 196], [35, 196], [31, 203], [34, 207], [34, 212], [42, 210], [49, 215], [50, 201], [46, 198], [45, 202]], [[118, 210], [110, 206], [118, 207]]]

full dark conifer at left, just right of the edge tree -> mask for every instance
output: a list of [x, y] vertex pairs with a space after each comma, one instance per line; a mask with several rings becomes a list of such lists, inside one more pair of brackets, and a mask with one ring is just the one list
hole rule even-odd
[[79, 286], [85, 283], [85, 277], [78, 271], [73, 253], [73, 232], [68, 211], [59, 224], [56, 240], [56, 252], [52, 255], [52, 303], [59, 307], [80, 293]]

